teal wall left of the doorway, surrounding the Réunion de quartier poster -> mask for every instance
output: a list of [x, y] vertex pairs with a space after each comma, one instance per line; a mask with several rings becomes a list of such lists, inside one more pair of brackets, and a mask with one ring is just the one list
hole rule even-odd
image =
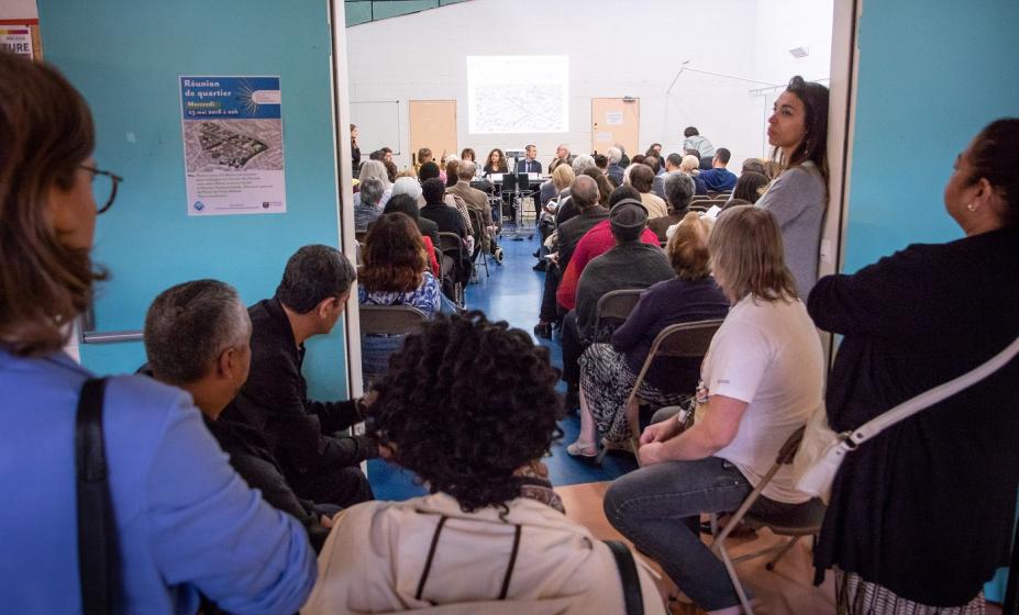
[[[254, 303], [274, 293], [297, 248], [337, 245], [325, 2], [288, 2], [286, 14], [274, 0], [38, 0], [38, 10], [46, 59], [92, 109], [98, 165], [125, 178], [97, 228], [95, 258], [112, 273], [97, 328], [141, 328], [159, 291], [196, 278], [230, 282]], [[188, 217], [180, 75], [280, 77], [287, 213]], [[309, 346], [312, 393], [344, 394], [341, 327]], [[84, 345], [81, 358], [98, 372], [128, 371], [144, 349]]]

